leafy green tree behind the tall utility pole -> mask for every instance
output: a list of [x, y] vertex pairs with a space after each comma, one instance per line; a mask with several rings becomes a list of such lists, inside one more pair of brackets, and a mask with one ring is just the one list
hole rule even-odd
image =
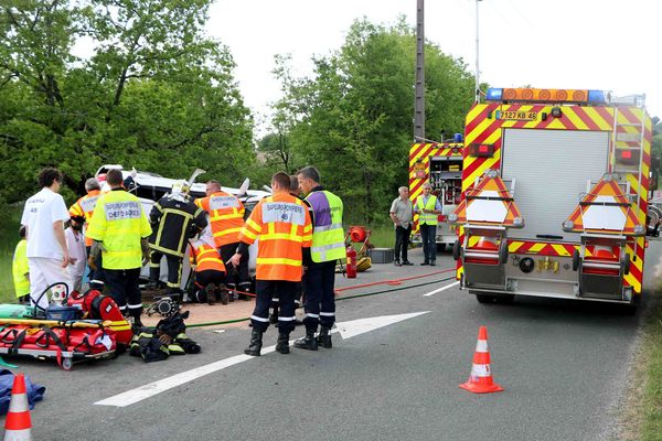
[[[314, 62], [311, 78], [276, 71], [285, 87], [289, 149], [316, 165], [322, 183], [351, 206], [350, 222], [383, 220], [408, 182], [416, 39], [404, 19], [391, 28], [356, 21], [342, 47]], [[426, 45], [426, 127], [462, 131], [473, 78], [461, 60]], [[275, 132], [278, 132], [275, 130]]]

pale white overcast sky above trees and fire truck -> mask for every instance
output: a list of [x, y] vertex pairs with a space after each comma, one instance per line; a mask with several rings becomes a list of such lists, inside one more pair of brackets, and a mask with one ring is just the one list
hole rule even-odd
[[[406, 15], [415, 26], [416, 0], [216, 0], [210, 15], [209, 34], [229, 47], [246, 104], [264, 114], [280, 96], [274, 55], [291, 54], [295, 72], [308, 75], [311, 56], [338, 50], [355, 19]], [[483, 0], [479, 25], [482, 82], [645, 94], [662, 118], [662, 1]], [[474, 72], [476, 0], [427, 0], [425, 35]]]

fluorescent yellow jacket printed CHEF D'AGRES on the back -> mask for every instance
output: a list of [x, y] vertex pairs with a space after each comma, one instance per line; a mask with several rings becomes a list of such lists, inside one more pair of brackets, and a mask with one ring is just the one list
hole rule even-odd
[[99, 198], [87, 228], [88, 237], [103, 243], [106, 269], [140, 268], [140, 239], [150, 234], [140, 200], [124, 190], [114, 190]]

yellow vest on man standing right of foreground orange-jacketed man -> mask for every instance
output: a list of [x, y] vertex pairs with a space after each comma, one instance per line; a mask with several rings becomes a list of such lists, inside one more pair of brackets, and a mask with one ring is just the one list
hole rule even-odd
[[313, 262], [324, 262], [346, 257], [344, 229], [342, 228], [342, 201], [325, 190], [312, 192], [306, 197], [312, 207]]

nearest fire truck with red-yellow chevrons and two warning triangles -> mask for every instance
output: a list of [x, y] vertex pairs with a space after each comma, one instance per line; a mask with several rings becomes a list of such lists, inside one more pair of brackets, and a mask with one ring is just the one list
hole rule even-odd
[[[491, 88], [466, 118], [462, 201], [448, 217], [460, 287], [622, 303], [641, 297], [656, 187], [643, 96]], [[656, 225], [649, 225], [651, 218]]]

